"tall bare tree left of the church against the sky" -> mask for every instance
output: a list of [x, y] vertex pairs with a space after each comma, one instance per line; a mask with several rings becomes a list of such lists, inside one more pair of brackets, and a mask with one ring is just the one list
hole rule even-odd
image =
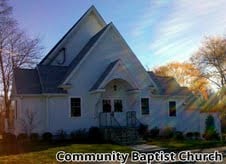
[[9, 118], [13, 69], [31, 67], [38, 60], [39, 39], [28, 37], [12, 17], [12, 7], [0, 0], [0, 85], [3, 89], [6, 118]]

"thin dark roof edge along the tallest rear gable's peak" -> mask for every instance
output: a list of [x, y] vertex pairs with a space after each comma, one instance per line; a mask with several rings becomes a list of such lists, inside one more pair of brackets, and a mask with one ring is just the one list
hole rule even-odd
[[57, 47], [67, 38], [69, 35], [71, 35], [72, 31], [78, 27], [78, 25], [82, 22], [85, 17], [87, 17], [91, 12], [95, 13], [97, 17], [99, 18], [100, 22], [103, 23], [103, 25], [106, 25], [104, 19], [99, 14], [99, 12], [96, 10], [96, 8], [92, 5], [83, 15], [82, 17], [68, 30], [68, 32], [57, 42], [57, 44], [49, 51], [49, 53], [41, 60], [39, 63], [40, 65], [44, 64], [45, 62], [49, 63], [47, 59], [50, 57], [50, 55], [54, 52], [54, 50], [57, 49]]

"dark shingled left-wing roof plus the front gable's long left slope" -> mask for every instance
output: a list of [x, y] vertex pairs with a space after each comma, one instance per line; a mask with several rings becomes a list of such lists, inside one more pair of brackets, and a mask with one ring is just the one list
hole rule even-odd
[[[109, 25], [95, 34], [69, 66], [52, 66], [39, 64], [36, 69], [15, 69], [15, 85], [18, 94], [66, 93], [58, 86], [70, 75], [85, 57]], [[47, 55], [48, 56], [48, 55]]]

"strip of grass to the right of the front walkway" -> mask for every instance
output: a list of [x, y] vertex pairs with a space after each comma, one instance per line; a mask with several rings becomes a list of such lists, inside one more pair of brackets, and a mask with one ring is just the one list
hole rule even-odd
[[203, 149], [226, 146], [225, 141], [153, 139], [147, 144], [168, 148], [171, 151]]

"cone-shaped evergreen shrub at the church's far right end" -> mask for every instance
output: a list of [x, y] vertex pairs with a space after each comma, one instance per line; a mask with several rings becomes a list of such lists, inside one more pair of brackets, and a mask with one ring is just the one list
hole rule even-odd
[[219, 134], [217, 133], [215, 129], [215, 124], [214, 124], [214, 117], [212, 115], [209, 115], [206, 118], [206, 129], [203, 134], [203, 138], [206, 140], [218, 140], [220, 139]]

